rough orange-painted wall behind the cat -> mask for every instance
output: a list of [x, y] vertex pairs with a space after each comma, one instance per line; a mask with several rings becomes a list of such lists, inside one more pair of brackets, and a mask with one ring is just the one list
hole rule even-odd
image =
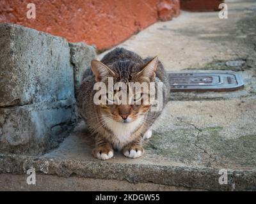
[[[36, 19], [26, 18], [36, 4]], [[0, 0], [0, 22], [12, 22], [103, 50], [157, 20], [179, 15], [179, 0]]]

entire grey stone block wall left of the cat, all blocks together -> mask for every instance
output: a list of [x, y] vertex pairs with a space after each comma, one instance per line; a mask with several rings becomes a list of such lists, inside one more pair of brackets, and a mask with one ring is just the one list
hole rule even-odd
[[15, 24], [0, 24], [0, 47], [0, 152], [43, 154], [76, 124], [95, 48]]

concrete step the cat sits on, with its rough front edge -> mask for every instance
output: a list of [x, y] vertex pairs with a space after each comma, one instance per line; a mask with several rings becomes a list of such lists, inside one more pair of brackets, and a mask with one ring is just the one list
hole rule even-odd
[[[218, 108], [217, 108], [218, 107]], [[145, 155], [92, 157], [93, 138], [83, 122], [44, 156], [1, 155], [1, 173], [153, 182], [205, 190], [253, 190], [256, 184], [255, 99], [170, 101], [145, 142]], [[227, 170], [228, 184], [219, 183]]]

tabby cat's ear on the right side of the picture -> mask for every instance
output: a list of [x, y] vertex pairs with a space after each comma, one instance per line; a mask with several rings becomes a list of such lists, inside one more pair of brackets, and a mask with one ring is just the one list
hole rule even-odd
[[147, 77], [150, 81], [154, 81], [156, 77], [156, 69], [157, 69], [158, 58], [157, 56], [151, 59], [147, 64], [145, 64], [140, 72], [137, 75], [141, 77]]

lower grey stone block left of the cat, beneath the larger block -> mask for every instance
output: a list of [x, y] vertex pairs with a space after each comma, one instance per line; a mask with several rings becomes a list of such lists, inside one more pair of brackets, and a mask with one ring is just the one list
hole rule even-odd
[[74, 103], [0, 108], [0, 152], [37, 155], [56, 147], [76, 122]]

